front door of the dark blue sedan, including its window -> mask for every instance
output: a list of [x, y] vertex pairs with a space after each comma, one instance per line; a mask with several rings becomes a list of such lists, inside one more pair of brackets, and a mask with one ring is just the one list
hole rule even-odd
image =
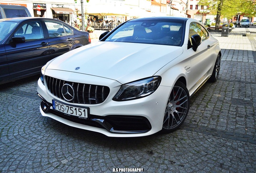
[[[13, 37], [25, 37], [25, 42], [15, 43]], [[29, 20], [14, 30], [5, 45], [11, 78], [39, 73], [50, 60], [48, 40], [40, 20]]]

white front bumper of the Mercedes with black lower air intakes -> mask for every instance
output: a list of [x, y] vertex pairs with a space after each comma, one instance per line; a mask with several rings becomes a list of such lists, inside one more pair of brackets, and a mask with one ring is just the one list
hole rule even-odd
[[[130, 101], [113, 101], [113, 96], [101, 104], [86, 105], [63, 101], [52, 95], [38, 80], [37, 92], [42, 99], [40, 112], [66, 125], [95, 131], [109, 137], [140, 137], [157, 133], [162, 129], [163, 116], [171, 87], [159, 86], [151, 95]], [[88, 119], [64, 115], [54, 111], [52, 100], [89, 109]]]

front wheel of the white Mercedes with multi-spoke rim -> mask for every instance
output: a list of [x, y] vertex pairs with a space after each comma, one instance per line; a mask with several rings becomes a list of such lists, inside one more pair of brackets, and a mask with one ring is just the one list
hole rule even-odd
[[190, 107], [190, 96], [187, 87], [180, 81], [174, 85], [163, 118], [162, 133], [175, 131], [185, 121]]

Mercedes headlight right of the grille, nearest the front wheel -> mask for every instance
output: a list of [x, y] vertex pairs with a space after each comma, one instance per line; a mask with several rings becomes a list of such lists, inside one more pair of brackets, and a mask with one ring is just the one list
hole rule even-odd
[[118, 93], [113, 98], [114, 101], [128, 101], [140, 99], [154, 93], [161, 82], [160, 76], [154, 76], [137, 80], [135, 82], [123, 84]]

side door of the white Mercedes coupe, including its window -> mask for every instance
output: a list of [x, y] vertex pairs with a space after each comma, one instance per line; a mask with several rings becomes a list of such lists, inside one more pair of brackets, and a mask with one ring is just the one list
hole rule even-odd
[[[197, 50], [194, 51], [192, 49], [191, 37], [195, 34], [200, 35], [201, 44], [198, 46]], [[190, 80], [188, 84], [189, 89], [194, 90], [198, 88], [204, 80], [208, 77], [209, 70], [213, 66], [216, 57], [213, 57], [212, 46], [214, 46], [215, 41], [209, 37], [209, 33], [206, 29], [201, 26], [201, 24], [192, 22], [190, 24], [190, 32], [189, 32], [189, 46], [188, 54], [190, 55], [191, 69], [190, 69]]]

